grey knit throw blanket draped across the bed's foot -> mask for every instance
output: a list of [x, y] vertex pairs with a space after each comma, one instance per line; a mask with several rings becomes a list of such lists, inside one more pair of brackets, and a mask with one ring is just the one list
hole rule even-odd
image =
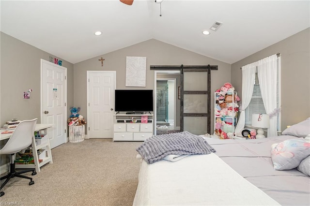
[[216, 151], [204, 138], [186, 131], [154, 135], [136, 150], [148, 163], [160, 161], [170, 154], [210, 154]]

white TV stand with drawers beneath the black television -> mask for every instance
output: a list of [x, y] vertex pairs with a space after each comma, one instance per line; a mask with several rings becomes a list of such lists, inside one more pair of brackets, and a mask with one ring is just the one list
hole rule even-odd
[[[114, 141], [144, 141], [153, 135], [153, 117], [150, 112], [145, 114], [126, 114], [117, 112], [114, 115], [113, 142]], [[141, 116], [148, 117], [148, 123], [141, 123]], [[136, 123], [131, 123], [136, 118]]]

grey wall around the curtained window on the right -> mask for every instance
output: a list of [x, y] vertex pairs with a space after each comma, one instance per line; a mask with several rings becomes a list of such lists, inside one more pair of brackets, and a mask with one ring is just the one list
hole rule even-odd
[[[273, 54], [281, 56], [281, 129], [310, 117], [310, 29], [300, 31], [232, 64], [232, 84], [242, 89], [240, 67]], [[242, 101], [241, 92], [239, 92]]]

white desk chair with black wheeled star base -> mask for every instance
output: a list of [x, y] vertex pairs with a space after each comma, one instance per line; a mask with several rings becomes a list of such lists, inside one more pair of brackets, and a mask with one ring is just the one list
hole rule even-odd
[[[33, 185], [34, 181], [32, 181], [31, 177], [23, 176], [20, 174], [32, 171], [31, 175], [35, 175], [35, 169], [28, 169], [23, 171], [15, 170], [15, 155], [22, 149], [29, 147], [32, 143], [32, 137], [34, 135], [35, 125], [37, 123], [37, 119], [32, 120], [24, 120], [21, 121], [15, 131], [12, 133], [12, 136], [8, 140], [8, 142], [0, 149], [0, 154], [10, 154], [11, 155], [11, 163], [10, 163], [10, 172], [0, 179], [6, 179], [3, 184], [1, 184], [0, 190], [4, 187], [4, 185], [13, 177], [22, 177], [26, 179], [30, 179], [29, 185]], [[0, 191], [0, 197], [4, 195], [3, 191]]]

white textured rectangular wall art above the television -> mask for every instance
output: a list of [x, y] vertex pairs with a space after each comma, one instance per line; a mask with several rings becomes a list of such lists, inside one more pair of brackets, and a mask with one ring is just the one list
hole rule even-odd
[[145, 87], [146, 57], [126, 57], [126, 87]]

